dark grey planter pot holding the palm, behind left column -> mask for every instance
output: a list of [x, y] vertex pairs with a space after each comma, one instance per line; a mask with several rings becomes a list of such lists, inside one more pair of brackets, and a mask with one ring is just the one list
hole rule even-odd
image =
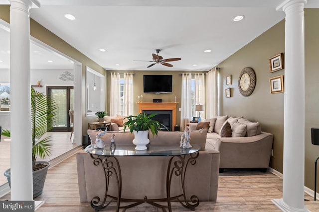
[[[48, 161], [37, 161], [36, 163], [44, 163], [47, 164], [46, 167], [33, 171], [33, 198], [36, 198], [43, 192], [44, 182], [46, 178], [46, 174], [48, 172], [48, 168], [50, 167], [50, 162]], [[11, 187], [11, 169], [7, 169], [4, 171], [4, 176], [6, 177], [9, 186]]]

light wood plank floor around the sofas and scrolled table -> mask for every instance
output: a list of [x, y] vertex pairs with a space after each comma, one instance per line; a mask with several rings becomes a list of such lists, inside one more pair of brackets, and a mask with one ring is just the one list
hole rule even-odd
[[[282, 179], [272, 173], [249, 169], [225, 169], [220, 173], [217, 202], [201, 202], [196, 212], [280, 212], [271, 202], [282, 198]], [[6, 195], [1, 200], [9, 200]], [[44, 191], [35, 200], [45, 201], [37, 212], [94, 212], [90, 203], [80, 203], [75, 155], [48, 170]], [[319, 211], [319, 201], [305, 193], [309, 211]], [[114, 212], [115, 207], [102, 210]], [[127, 212], [160, 212], [143, 204]], [[173, 212], [189, 212], [179, 203], [172, 203]]]

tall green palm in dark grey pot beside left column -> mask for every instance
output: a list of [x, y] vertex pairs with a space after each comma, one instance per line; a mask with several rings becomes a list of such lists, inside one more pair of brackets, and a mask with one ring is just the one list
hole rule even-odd
[[[54, 121], [56, 109], [55, 101], [31, 87], [33, 198], [42, 194], [46, 173], [50, 166], [48, 161], [36, 161], [36, 159], [37, 157], [43, 159], [51, 154], [51, 136], [42, 137], [52, 129], [51, 123]], [[10, 131], [2, 130], [1, 135], [10, 137]], [[4, 171], [4, 176], [6, 176], [9, 186], [11, 186], [10, 169]]]

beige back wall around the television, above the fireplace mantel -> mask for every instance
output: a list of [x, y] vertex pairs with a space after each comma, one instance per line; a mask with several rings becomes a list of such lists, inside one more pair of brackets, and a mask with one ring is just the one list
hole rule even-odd
[[[158, 65], [160, 66], [160, 65]], [[169, 69], [169, 68], [167, 68]], [[181, 97], [181, 75], [180, 73], [205, 73], [207, 71], [107, 71], [107, 85], [110, 85], [110, 72], [117, 73], [136, 73], [133, 77], [134, 83], [134, 101], [138, 102], [138, 96], [143, 94], [143, 102], [153, 102], [153, 99], [162, 99], [162, 102], [174, 102], [175, 96], [176, 101], [178, 102], [176, 106], [176, 124], [180, 126], [180, 111], [178, 108], [180, 105]], [[143, 75], [144, 74], [161, 74], [161, 75], [172, 75], [172, 92], [163, 93], [163, 94], [154, 94], [154, 93], [144, 93], [143, 92]], [[110, 99], [110, 87], [107, 86], [107, 99]], [[107, 103], [107, 113], [110, 114], [110, 101]], [[139, 107], [137, 104], [134, 104], [134, 113], [139, 113]], [[111, 114], [114, 115], [114, 114]]]

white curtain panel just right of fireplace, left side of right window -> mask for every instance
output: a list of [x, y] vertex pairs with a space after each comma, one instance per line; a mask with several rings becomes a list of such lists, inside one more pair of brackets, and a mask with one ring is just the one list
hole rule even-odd
[[191, 74], [182, 73], [180, 130], [184, 131], [186, 122], [191, 120]]

